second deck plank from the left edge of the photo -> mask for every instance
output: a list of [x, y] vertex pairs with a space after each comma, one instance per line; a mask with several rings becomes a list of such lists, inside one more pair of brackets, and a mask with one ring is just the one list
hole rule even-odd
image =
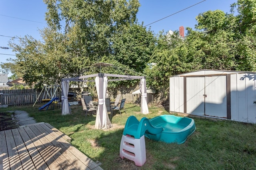
[[5, 131], [5, 135], [6, 135], [6, 144], [7, 144], [8, 156], [9, 156], [9, 162], [10, 162], [10, 169], [11, 170], [23, 169], [22, 164], [20, 162], [18, 150], [16, 149], [16, 145], [12, 135], [12, 130]]

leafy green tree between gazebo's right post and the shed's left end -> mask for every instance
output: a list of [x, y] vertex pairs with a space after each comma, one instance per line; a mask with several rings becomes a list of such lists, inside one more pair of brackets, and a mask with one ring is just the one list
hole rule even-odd
[[154, 53], [146, 69], [147, 80], [155, 89], [167, 89], [169, 76], [191, 69], [188, 48], [178, 31], [172, 35], [160, 32]]

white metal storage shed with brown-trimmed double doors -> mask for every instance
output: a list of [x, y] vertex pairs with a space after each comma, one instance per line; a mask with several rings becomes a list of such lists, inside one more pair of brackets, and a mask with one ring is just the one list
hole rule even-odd
[[256, 123], [256, 72], [199, 70], [170, 77], [170, 111]]

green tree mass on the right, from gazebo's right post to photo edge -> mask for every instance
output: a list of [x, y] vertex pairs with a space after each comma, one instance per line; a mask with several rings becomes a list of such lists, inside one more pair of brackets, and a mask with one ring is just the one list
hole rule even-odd
[[150, 85], [166, 88], [169, 76], [200, 69], [256, 71], [256, 0], [238, 0], [231, 14], [207, 11], [196, 20], [183, 39], [175, 31], [160, 34], [150, 61], [155, 66], [147, 69]]

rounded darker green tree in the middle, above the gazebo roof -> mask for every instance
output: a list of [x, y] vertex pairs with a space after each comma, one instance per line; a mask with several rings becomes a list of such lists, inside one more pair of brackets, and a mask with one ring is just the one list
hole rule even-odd
[[128, 25], [112, 37], [110, 59], [142, 73], [153, 53], [156, 37], [137, 23]]

